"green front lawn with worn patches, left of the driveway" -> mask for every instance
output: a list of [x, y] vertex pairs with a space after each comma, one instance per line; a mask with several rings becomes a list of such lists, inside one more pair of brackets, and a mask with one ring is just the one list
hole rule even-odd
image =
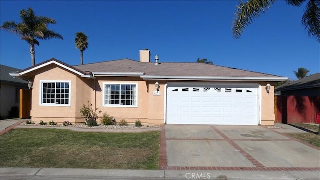
[[0, 167], [158, 169], [160, 132], [13, 129], [0, 139]]

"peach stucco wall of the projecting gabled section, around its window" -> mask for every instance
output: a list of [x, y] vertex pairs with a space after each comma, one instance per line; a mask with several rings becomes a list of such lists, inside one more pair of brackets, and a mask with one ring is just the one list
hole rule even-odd
[[[86, 99], [91, 100], [91, 93], [88, 93], [91, 87], [85, 85], [85, 80], [83, 81], [74, 73], [53, 64], [33, 73], [37, 75], [34, 77], [32, 89], [32, 121], [39, 122], [43, 120], [45, 122], [62, 123], [68, 120], [73, 123], [81, 122], [83, 119], [79, 113], [81, 102], [86, 102]], [[70, 106], [40, 105], [40, 80], [71, 81]]]

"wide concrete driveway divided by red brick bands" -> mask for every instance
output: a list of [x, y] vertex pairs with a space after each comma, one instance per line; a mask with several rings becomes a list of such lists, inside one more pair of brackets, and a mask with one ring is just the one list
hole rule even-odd
[[[160, 164], [166, 164], [163, 169], [320, 169], [319, 148], [291, 139], [276, 129], [262, 126], [165, 125], [161, 133], [164, 135], [161, 136]], [[166, 152], [166, 157], [163, 157], [163, 152]]]

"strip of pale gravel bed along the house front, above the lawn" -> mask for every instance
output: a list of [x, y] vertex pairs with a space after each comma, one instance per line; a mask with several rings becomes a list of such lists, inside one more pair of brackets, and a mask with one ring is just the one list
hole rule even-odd
[[64, 126], [63, 124], [56, 124], [56, 125], [40, 125], [40, 124], [26, 124], [25, 122], [22, 122], [20, 125], [23, 126], [49, 126], [49, 127], [77, 127], [77, 128], [90, 128], [90, 129], [144, 129], [144, 128], [159, 128], [160, 125], [142, 125], [139, 127], [136, 127], [135, 124], [128, 124], [127, 126], [120, 126], [118, 124], [116, 125], [101, 125], [98, 124], [97, 126], [88, 126], [85, 125], [84, 123], [77, 123], [77, 124], [72, 124], [68, 126]]

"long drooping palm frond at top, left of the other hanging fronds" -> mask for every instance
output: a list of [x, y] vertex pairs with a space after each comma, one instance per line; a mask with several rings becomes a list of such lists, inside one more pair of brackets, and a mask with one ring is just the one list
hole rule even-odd
[[271, 7], [274, 0], [249, 0], [239, 1], [237, 10], [232, 22], [232, 34], [234, 38], [240, 38], [243, 30], [253, 22], [260, 14], [264, 14]]

